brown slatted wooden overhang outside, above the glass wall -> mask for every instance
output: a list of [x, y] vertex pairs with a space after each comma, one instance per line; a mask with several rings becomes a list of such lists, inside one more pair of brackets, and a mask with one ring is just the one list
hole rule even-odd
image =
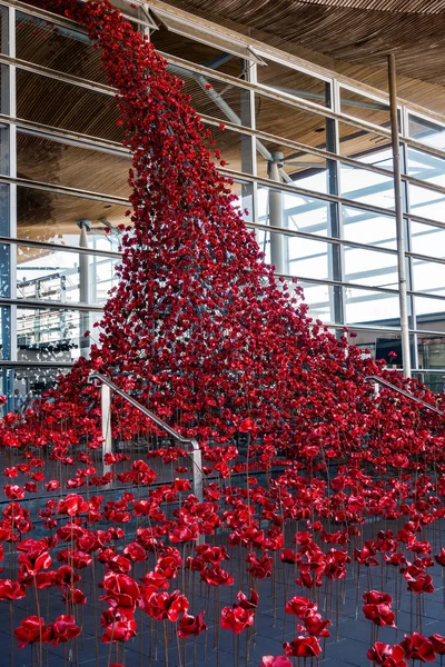
[[220, 0], [217, 11], [212, 0], [169, 3], [284, 50], [307, 50], [313, 62], [324, 54], [384, 67], [394, 51], [400, 74], [444, 84], [445, 0]]

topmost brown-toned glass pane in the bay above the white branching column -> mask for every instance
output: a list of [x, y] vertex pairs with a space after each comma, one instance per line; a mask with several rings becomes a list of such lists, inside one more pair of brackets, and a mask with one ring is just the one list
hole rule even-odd
[[264, 58], [267, 67], [258, 67], [257, 80], [268, 88], [330, 107], [330, 84], [290, 66]]

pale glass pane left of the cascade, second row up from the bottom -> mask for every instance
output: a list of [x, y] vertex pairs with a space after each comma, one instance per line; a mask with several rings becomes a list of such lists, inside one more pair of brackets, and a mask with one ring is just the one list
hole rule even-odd
[[[17, 355], [19, 361], [71, 362], [88, 356], [90, 341], [97, 340], [95, 322], [100, 312], [63, 308], [17, 309]], [[85, 338], [85, 331], [92, 338]]]

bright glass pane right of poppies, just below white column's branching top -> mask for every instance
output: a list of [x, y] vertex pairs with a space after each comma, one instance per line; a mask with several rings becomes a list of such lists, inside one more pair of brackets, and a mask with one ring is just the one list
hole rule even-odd
[[[270, 197], [281, 200], [283, 218], [278, 225], [270, 220]], [[273, 202], [274, 203], [274, 202]], [[276, 203], [276, 202], [275, 202]], [[275, 188], [258, 187], [258, 222], [287, 227], [295, 231], [314, 233], [317, 236], [332, 236], [330, 203], [314, 197], [293, 195]], [[279, 206], [275, 211], [279, 211]], [[274, 209], [273, 209], [274, 212]]]

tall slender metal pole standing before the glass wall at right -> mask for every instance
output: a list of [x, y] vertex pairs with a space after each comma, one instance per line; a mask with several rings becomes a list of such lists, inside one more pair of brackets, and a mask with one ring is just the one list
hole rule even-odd
[[400, 331], [403, 371], [406, 378], [411, 377], [411, 350], [409, 350], [409, 325], [408, 325], [408, 297], [406, 291], [406, 266], [405, 266], [405, 233], [403, 219], [403, 193], [400, 170], [400, 146], [398, 141], [398, 115], [397, 115], [397, 83], [396, 60], [394, 53], [388, 56], [388, 80], [389, 80], [389, 108], [390, 108], [390, 132], [393, 145], [394, 166], [394, 196], [396, 205], [396, 236], [397, 236], [397, 269], [398, 269], [398, 298], [400, 306]]

